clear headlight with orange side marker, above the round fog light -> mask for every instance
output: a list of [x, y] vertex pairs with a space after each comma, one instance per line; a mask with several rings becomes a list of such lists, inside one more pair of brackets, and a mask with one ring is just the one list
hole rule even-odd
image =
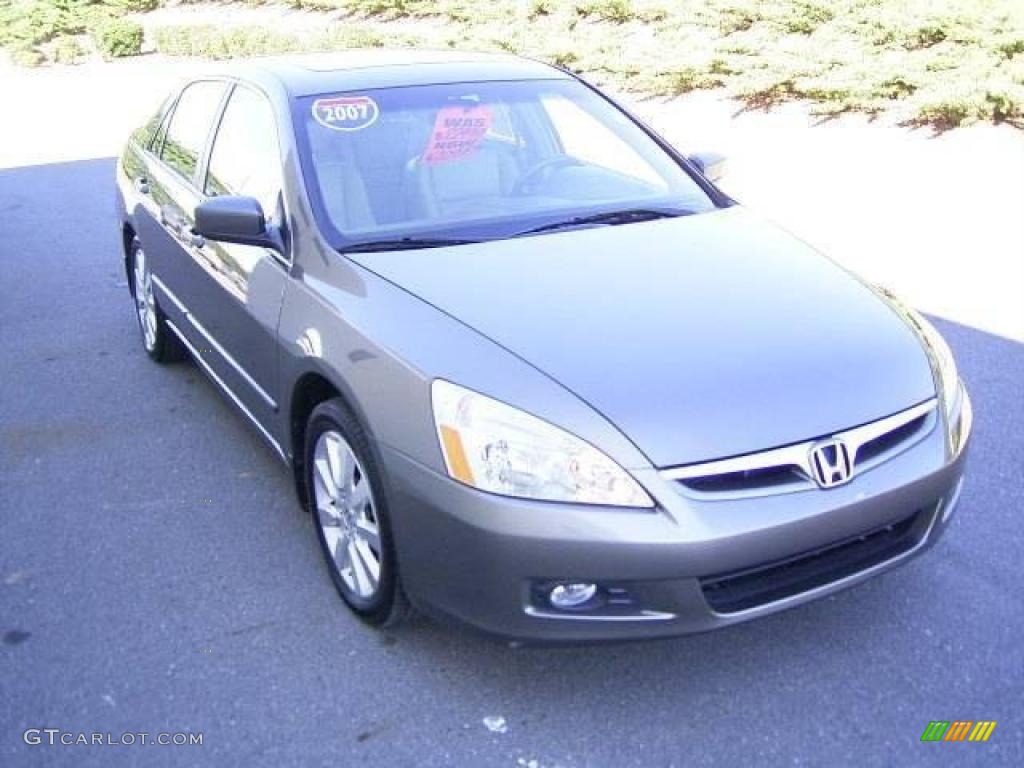
[[431, 396], [449, 474], [467, 485], [549, 502], [654, 506], [611, 459], [536, 416], [440, 379]]

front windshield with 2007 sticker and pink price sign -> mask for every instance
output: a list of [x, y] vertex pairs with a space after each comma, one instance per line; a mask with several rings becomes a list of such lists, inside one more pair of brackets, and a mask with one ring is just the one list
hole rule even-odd
[[[298, 99], [297, 118], [313, 208], [342, 249], [715, 208], [640, 127], [574, 80], [326, 93]], [[603, 216], [616, 211], [630, 215]]]

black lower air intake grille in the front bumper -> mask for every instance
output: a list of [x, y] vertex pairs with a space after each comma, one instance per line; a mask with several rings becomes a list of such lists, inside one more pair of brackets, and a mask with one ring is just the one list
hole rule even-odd
[[913, 549], [928, 529], [932, 512], [931, 508], [919, 510], [899, 522], [785, 560], [705, 577], [700, 588], [718, 613], [735, 613], [799, 595]]

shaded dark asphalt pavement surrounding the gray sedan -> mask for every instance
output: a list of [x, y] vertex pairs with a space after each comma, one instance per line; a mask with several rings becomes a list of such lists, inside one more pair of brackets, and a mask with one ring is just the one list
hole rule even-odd
[[[0, 170], [0, 766], [1024, 764], [1024, 345], [939, 322], [976, 433], [951, 529], [904, 568], [672, 641], [381, 633], [270, 451], [142, 352], [112, 173]], [[931, 720], [997, 726], [922, 743]]]

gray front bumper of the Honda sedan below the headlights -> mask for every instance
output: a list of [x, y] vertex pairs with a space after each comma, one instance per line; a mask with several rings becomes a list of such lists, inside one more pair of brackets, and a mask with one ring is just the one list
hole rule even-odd
[[[846, 485], [752, 499], [689, 498], [634, 475], [654, 511], [485, 494], [382, 446], [410, 599], [429, 613], [531, 642], [681, 635], [831, 594], [925, 552], [959, 497], [965, 444], [943, 430]], [[551, 606], [560, 582], [600, 585], [589, 610]]]

